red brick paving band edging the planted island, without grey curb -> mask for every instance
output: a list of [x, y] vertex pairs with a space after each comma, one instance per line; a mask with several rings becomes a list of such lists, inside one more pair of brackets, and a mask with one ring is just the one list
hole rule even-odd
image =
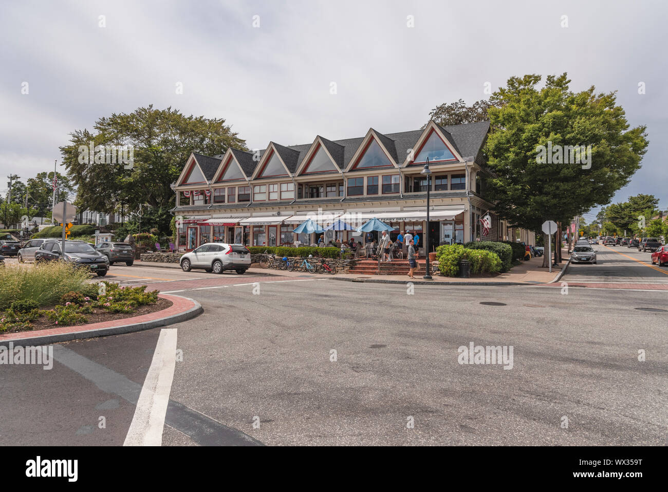
[[49, 328], [48, 330], [35, 330], [33, 332], [7, 333], [0, 335], [0, 342], [9, 342], [11, 340], [26, 338], [40, 338], [53, 335], [76, 334], [80, 332], [88, 332], [90, 330], [100, 330], [102, 328], [116, 328], [119, 326], [144, 324], [184, 313], [188, 310], [191, 310], [196, 305], [190, 299], [186, 299], [185, 297], [180, 297], [178, 295], [159, 294], [159, 297], [172, 301], [172, 305], [162, 311], [143, 314], [142, 316], [135, 316], [134, 318], [124, 318], [122, 320], [112, 320], [86, 325], [63, 326], [62, 328]]

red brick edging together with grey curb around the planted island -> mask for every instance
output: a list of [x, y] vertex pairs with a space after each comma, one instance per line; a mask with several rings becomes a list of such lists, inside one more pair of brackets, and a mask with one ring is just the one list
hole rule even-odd
[[204, 311], [200, 303], [189, 297], [171, 294], [159, 294], [159, 297], [172, 301], [172, 305], [164, 310], [135, 316], [134, 318], [87, 325], [63, 326], [62, 328], [49, 328], [47, 330], [36, 330], [35, 332], [7, 333], [0, 335], [0, 346], [9, 346], [9, 342], [14, 346], [38, 346], [83, 338], [140, 332], [192, 320]]

